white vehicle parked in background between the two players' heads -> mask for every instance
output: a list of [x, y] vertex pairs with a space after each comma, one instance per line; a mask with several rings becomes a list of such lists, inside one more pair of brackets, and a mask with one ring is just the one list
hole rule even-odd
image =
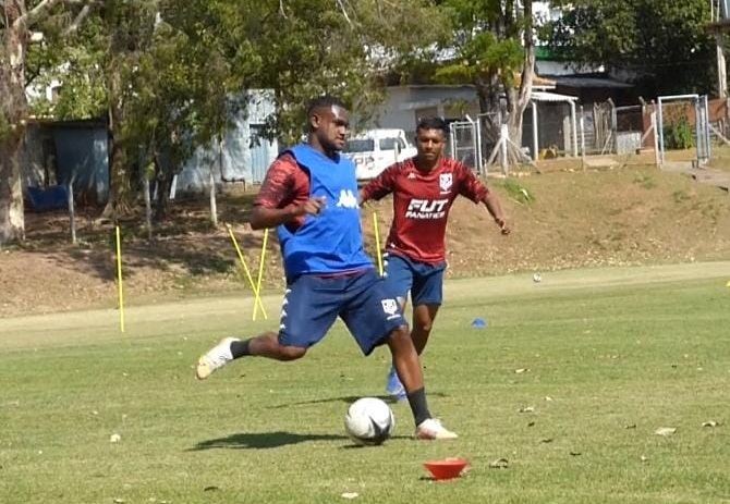
[[396, 161], [412, 158], [416, 148], [403, 130], [367, 130], [350, 137], [342, 153], [355, 163], [357, 180], [367, 181]]

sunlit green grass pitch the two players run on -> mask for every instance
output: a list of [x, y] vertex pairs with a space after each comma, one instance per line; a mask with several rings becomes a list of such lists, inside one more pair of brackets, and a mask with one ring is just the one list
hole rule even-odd
[[[340, 325], [299, 362], [193, 379], [221, 336], [276, 327], [278, 296], [268, 322], [246, 297], [130, 307], [124, 334], [114, 310], [2, 319], [0, 502], [729, 503], [729, 280], [715, 262], [450, 282], [424, 364], [461, 438], [414, 441], [396, 404], [396, 437], [364, 448], [342, 418], [388, 356]], [[471, 470], [428, 480], [446, 456]]]

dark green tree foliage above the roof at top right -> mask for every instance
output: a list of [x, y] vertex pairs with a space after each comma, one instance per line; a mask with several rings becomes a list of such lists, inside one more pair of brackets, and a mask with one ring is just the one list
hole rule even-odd
[[715, 63], [706, 0], [576, 0], [546, 25], [551, 49], [582, 65], [629, 71], [646, 93], [707, 93]]

